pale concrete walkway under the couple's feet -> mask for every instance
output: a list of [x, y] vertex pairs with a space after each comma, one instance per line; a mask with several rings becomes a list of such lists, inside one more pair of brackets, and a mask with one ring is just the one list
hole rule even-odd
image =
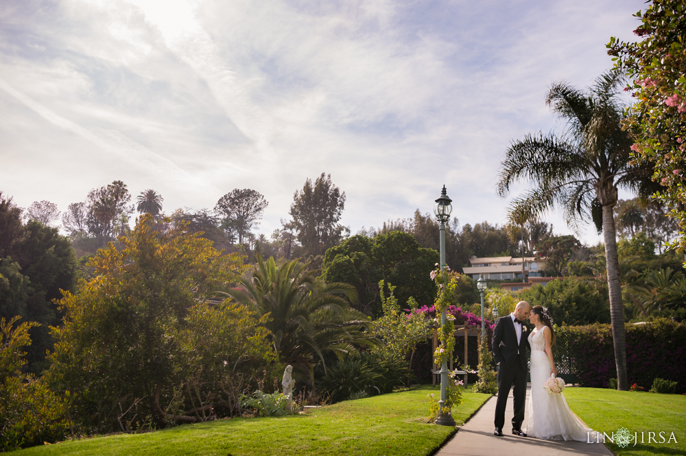
[[[526, 408], [529, 407], [530, 385], [526, 390]], [[495, 403], [497, 397], [488, 399], [477, 413], [470, 418], [458, 433], [438, 450], [436, 456], [502, 456], [502, 455], [545, 455], [545, 456], [569, 456], [569, 455], [605, 455], [612, 456], [603, 444], [588, 444], [586, 442], [565, 442], [559, 440], [539, 440], [532, 437], [518, 437], [512, 434], [512, 392], [508, 398], [508, 407], [505, 411], [505, 429], [503, 436], [493, 435], [495, 425]], [[527, 427], [526, 414], [522, 429]]]

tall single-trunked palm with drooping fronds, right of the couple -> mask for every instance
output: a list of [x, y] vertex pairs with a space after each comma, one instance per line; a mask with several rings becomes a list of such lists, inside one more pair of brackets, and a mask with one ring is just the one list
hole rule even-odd
[[556, 83], [546, 104], [567, 121], [556, 134], [529, 134], [512, 143], [501, 163], [498, 192], [506, 197], [511, 186], [528, 180], [532, 189], [512, 201], [510, 218], [534, 218], [559, 205], [570, 227], [589, 217], [602, 229], [610, 290], [610, 312], [617, 368], [617, 389], [628, 389], [622, 288], [613, 207], [617, 188], [646, 194], [652, 168], [631, 161], [631, 141], [619, 125], [622, 105], [617, 95], [622, 84], [618, 73], [604, 73], [587, 92]]

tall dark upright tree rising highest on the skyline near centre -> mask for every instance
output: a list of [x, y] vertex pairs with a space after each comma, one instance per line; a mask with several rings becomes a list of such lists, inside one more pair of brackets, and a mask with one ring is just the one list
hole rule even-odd
[[333, 184], [330, 174], [322, 173], [314, 183], [307, 179], [303, 190], [293, 194], [290, 210], [293, 220], [286, 227], [298, 233], [298, 242], [306, 253], [322, 255], [350, 233], [350, 229], [338, 223], [344, 205], [345, 192]]

